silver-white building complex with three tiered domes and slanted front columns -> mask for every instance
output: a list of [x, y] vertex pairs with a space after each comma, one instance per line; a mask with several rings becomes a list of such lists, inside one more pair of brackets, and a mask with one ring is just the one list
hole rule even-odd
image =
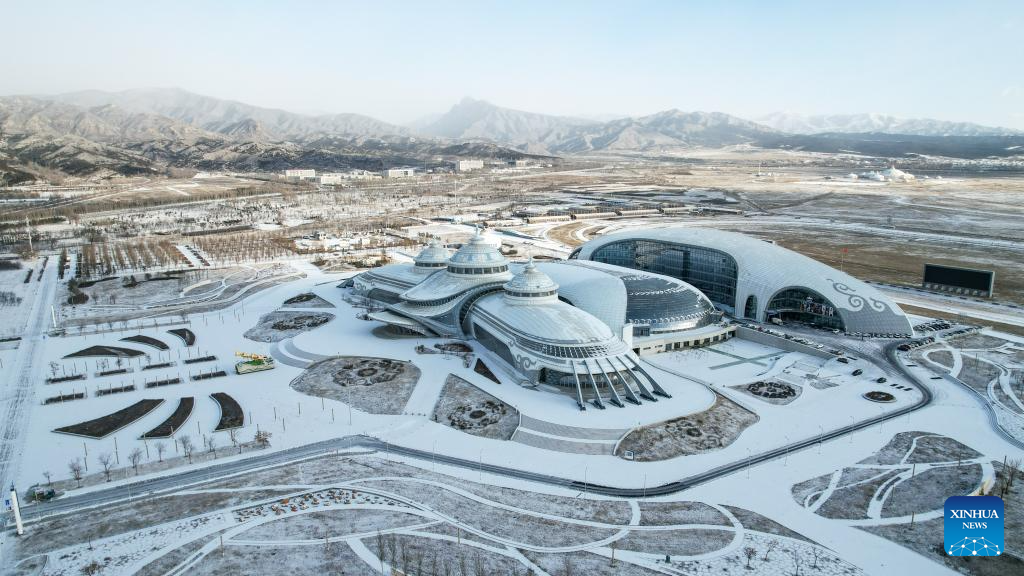
[[707, 297], [673, 278], [598, 262], [512, 263], [479, 234], [443, 266], [442, 251], [431, 243], [412, 264], [356, 276], [353, 292], [384, 307], [370, 318], [475, 339], [503, 374], [570, 394], [581, 409], [669, 397], [639, 354], [734, 334]]

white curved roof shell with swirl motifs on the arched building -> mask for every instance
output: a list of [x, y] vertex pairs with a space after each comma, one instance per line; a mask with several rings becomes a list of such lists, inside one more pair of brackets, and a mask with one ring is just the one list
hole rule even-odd
[[603, 246], [630, 240], [710, 248], [729, 254], [738, 268], [736, 301], [723, 303], [737, 312], [743, 310], [748, 296], [757, 298], [760, 314], [780, 290], [806, 288], [831, 302], [847, 332], [913, 333], [903, 311], [873, 287], [815, 259], [743, 234], [682, 227], [632, 230], [591, 240], [578, 257], [590, 259]]

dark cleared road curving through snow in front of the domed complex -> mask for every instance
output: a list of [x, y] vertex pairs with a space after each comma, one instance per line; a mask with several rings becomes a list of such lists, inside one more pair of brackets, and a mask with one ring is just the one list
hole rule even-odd
[[615, 496], [622, 498], [645, 498], [645, 497], [674, 494], [676, 492], [688, 490], [695, 486], [712, 482], [716, 479], [729, 476], [731, 474], [735, 474], [736, 471], [742, 470], [749, 466], [758, 465], [770, 460], [774, 460], [776, 458], [784, 457], [788, 455], [791, 452], [797, 452], [805, 448], [814, 447], [819, 442], [823, 443], [830, 440], [835, 440], [844, 437], [848, 434], [868, 428], [880, 422], [891, 420], [893, 418], [899, 418], [900, 416], [906, 415], [910, 412], [920, 410], [921, 408], [928, 406], [932, 402], [931, 390], [928, 388], [927, 385], [925, 385], [924, 382], [918, 380], [909, 371], [906, 370], [906, 368], [900, 362], [899, 358], [897, 358], [896, 356], [895, 353], [896, 344], [897, 342], [893, 342], [889, 346], [887, 346], [886, 351], [887, 357], [890, 363], [897, 370], [899, 370], [909, 381], [918, 383], [919, 387], [922, 390], [922, 399], [916, 404], [907, 406], [905, 408], [896, 410], [894, 412], [890, 412], [888, 414], [879, 415], [857, 422], [855, 424], [843, 426], [841, 428], [837, 428], [835, 430], [825, 433], [820, 436], [815, 436], [805, 440], [794, 442], [786, 446], [781, 446], [773, 450], [763, 452], [756, 456], [751, 456], [748, 458], [736, 460], [734, 462], [723, 464], [721, 466], [705, 470], [700, 474], [686, 477], [668, 484], [663, 484], [660, 486], [651, 486], [648, 488], [622, 488], [612, 486], [600, 486], [595, 484], [585, 484], [583, 482], [567, 478], [530, 472], [495, 464], [486, 464], [486, 463], [481, 464], [479, 461], [474, 461], [471, 459], [459, 458], [455, 456], [446, 456], [444, 454], [435, 454], [433, 452], [418, 450], [415, 448], [406, 448], [402, 446], [389, 445], [388, 443], [381, 441], [377, 438], [372, 438], [367, 436], [350, 436], [350, 437], [327, 440], [315, 444], [301, 446], [298, 448], [291, 448], [287, 450], [281, 450], [278, 452], [270, 452], [265, 455], [253, 456], [250, 458], [246, 458], [244, 460], [225, 462], [222, 464], [214, 464], [212, 466], [208, 466], [205, 468], [187, 470], [173, 476], [165, 476], [151, 480], [135, 482], [131, 484], [119, 485], [103, 490], [97, 490], [95, 492], [89, 492], [77, 496], [61, 498], [59, 500], [49, 502], [46, 504], [39, 504], [39, 505], [32, 505], [25, 507], [23, 508], [23, 513], [26, 521], [31, 522], [33, 520], [40, 520], [42, 518], [54, 515], [71, 512], [99, 505], [106, 505], [119, 501], [125, 501], [131, 498], [137, 498], [139, 496], [148, 496], [158, 493], [169, 493], [175, 490], [180, 490], [182, 488], [185, 488], [194, 484], [209, 482], [211, 480], [222, 478], [224, 476], [244, 474], [246, 471], [255, 470], [257, 468], [282, 465], [297, 460], [303, 460], [307, 458], [328, 455], [338, 450], [349, 450], [349, 449], [365, 449], [377, 452], [384, 452], [385, 454], [389, 455], [393, 454], [396, 456], [417, 458], [425, 461], [432, 461], [452, 466], [459, 466], [473, 471], [504, 476], [507, 478], [525, 480], [529, 482], [538, 482], [541, 484], [558, 486], [561, 488], [568, 488], [571, 490], [589, 492], [594, 494], [602, 494], [606, 496]]

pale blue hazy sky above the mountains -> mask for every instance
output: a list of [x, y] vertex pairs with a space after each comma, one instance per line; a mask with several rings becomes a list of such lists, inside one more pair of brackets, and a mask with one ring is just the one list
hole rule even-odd
[[0, 93], [177, 86], [404, 123], [879, 112], [1024, 129], [1024, 1], [0, 0]]

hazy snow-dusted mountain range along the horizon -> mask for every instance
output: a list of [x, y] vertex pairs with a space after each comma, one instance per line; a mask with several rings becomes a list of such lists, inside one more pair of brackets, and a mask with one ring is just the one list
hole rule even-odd
[[169, 167], [380, 169], [466, 157], [550, 159], [735, 145], [984, 158], [1019, 155], [1024, 146], [1024, 133], [970, 123], [785, 113], [760, 120], [669, 110], [602, 122], [465, 98], [407, 127], [358, 114], [296, 114], [177, 88], [6, 96], [0, 97], [0, 181], [31, 179], [33, 166], [76, 175]]

